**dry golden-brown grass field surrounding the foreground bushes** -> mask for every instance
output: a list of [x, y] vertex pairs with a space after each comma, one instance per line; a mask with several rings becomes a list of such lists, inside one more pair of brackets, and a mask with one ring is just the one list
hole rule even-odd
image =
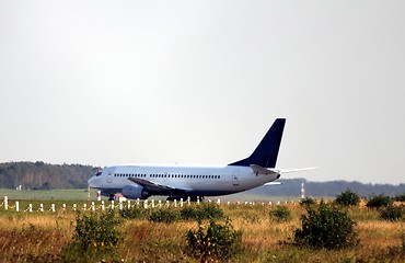
[[[72, 194], [73, 192], [70, 192]], [[86, 193], [84, 198], [86, 199]], [[10, 195], [12, 197], [12, 195]], [[21, 197], [21, 196], [18, 196]], [[56, 198], [56, 197], [55, 197]], [[45, 207], [62, 201], [42, 202]], [[23, 202], [23, 201], [22, 201]], [[27, 202], [27, 201], [24, 201]], [[72, 199], [65, 203], [72, 204]], [[78, 206], [89, 202], [78, 202]], [[80, 205], [79, 205], [80, 204]], [[100, 206], [100, 203], [96, 203]], [[196, 204], [192, 204], [196, 206]], [[37, 206], [35, 206], [36, 208]], [[231, 262], [404, 262], [404, 221], [383, 221], [377, 210], [364, 207], [349, 210], [357, 221], [359, 244], [342, 250], [311, 250], [286, 244], [301, 227], [305, 210], [298, 204], [287, 207], [292, 219], [277, 222], [269, 219], [269, 205], [222, 204], [220, 208], [231, 219], [234, 229], [242, 230], [243, 251]], [[152, 209], [152, 208], [149, 208]], [[159, 209], [159, 208], [153, 208]], [[181, 209], [180, 207], [171, 209]], [[90, 211], [86, 211], [90, 213]], [[101, 213], [101, 211], [96, 211]], [[68, 251], [74, 232], [77, 213], [71, 210], [5, 211], [0, 208], [0, 258], [2, 262], [96, 262], [100, 254]], [[116, 217], [119, 217], [116, 213]], [[205, 222], [207, 224], [207, 221]], [[107, 262], [198, 262], [187, 254], [185, 233], [197, 229], [195, 220], [172, 224], [152, 222], [146, 218], [124, 219], [119, 229], [124, 239], [115, 253], [105, 255]]]

